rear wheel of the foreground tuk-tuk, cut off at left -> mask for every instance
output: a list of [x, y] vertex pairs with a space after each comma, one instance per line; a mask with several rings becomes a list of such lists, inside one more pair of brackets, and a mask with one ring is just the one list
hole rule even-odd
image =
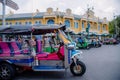
[[0, 65], [0, 79], [11, 80], [15, 76], [15, 69], [7, 63]]

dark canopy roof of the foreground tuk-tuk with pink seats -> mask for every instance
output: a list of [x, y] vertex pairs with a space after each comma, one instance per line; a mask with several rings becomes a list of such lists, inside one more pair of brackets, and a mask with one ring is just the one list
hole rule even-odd
[[65, 30], [65, 25], [15, 25], [15, 26], [0, 26], [0, 34], [20, 34], [20, 35], [39, 35], [46, 33], [54, 33], [56, 30]]

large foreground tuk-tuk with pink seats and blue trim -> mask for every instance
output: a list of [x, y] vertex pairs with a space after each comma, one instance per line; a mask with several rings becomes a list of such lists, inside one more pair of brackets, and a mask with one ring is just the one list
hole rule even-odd
[[[0, 27], [2, 35], [29, 35], [29, 48], [21, 48], [17, 40], [0, 42], [0, 79], [9, 80], [17, 72], [31, 69], [33, 71], [70, 71], [75, 76], [82, 76], [86, 66], [80, 61], [81, 51], [75, 50], [64, 33], [65, 25], [33, 25]], [[36, 40], [33, 45], [33, 35], [55, 33], [59, 37], [58, 50], [52, 53], [43, 51], [43, 42]], [[23, 44], [25, 45], [25, 44]], [[35, 48], [36, 47], [36, 50]]]

